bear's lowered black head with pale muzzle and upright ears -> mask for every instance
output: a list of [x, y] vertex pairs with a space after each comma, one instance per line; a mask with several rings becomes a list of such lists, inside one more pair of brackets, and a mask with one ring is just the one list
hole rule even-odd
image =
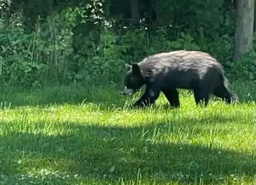
[[126, 71], [124, 90], [121, 95], [133, 95], [145, 84], [144, 76], [138, 64], [126, 64]]

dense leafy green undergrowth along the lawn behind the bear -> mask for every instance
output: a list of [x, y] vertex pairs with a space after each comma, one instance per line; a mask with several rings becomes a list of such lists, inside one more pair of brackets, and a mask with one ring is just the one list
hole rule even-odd
[[[69, 6], [58, 2], [58, 8], [47, 14], [42, 13], [46, 7], [34, 11], [34, 21], [25, 12], [30, 5], [14, 11], [3, 2], [0, 85], [33, 86], [45, 80], [120, 82], [126, 62], [176, 49], [209, 52], [230, 78], [255, 80], [255, 49], [241, 61], [232, 61], [235, 11], [227, 9], [224, 0], [159, 1], [156, 22], [139, 25], [113, 16], [109, 2], [103, 0]], [[55, 6], [50, 4], [46, 6]]]

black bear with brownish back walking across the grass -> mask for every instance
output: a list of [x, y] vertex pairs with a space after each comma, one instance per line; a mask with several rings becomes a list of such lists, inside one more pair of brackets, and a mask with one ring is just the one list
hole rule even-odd
[[176, 88], [191, 89], [195, 103], [207, 106], [210, 94], [226, 103], [238, 100], [227, 86], [222, 65], [210, 54], [179, 50], [148, 56], [138, 64], [126, 64], [122, 95], [133, 95], [141, 86], [145, 92], [134, 106], [153, 104], [162, 91], [171, 106], [180, 107]]

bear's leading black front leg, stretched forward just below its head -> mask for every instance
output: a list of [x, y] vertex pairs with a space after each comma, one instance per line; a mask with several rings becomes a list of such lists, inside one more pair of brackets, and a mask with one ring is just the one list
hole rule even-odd
[[160, 95], [160, 90], [156, 86], [147, 86], [141, 98], [135, 102], [134, 107], [150, 106], [155, 103]]

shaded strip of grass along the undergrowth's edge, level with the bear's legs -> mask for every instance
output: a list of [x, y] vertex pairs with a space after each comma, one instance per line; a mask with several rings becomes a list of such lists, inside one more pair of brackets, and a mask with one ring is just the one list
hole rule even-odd
[[[244, 83], [233, 86], [234, 91], [239, 95], [241, 103], [255, 100], [254, 84]], [[69, 86], [30, 89], [9, 87], [1, 89], [0, 102], [2, 102], [1, 108], [15, 108], [27, 105], [46, 106], [63, 103], [94, 103], [95, 105], [100, 105], [102, 110], [106, 110], [108, 108], [123, 108], [126, 101], [134, 103], [139, 98], [139, 95], [136, 95], [132, 100], [131, 97], [119, 95], [121, 90], [121, 86], [115, 84], [103, 84], [102, 86], [72, 84]], [[193, 98], [193, 95], [191, 98]]]

